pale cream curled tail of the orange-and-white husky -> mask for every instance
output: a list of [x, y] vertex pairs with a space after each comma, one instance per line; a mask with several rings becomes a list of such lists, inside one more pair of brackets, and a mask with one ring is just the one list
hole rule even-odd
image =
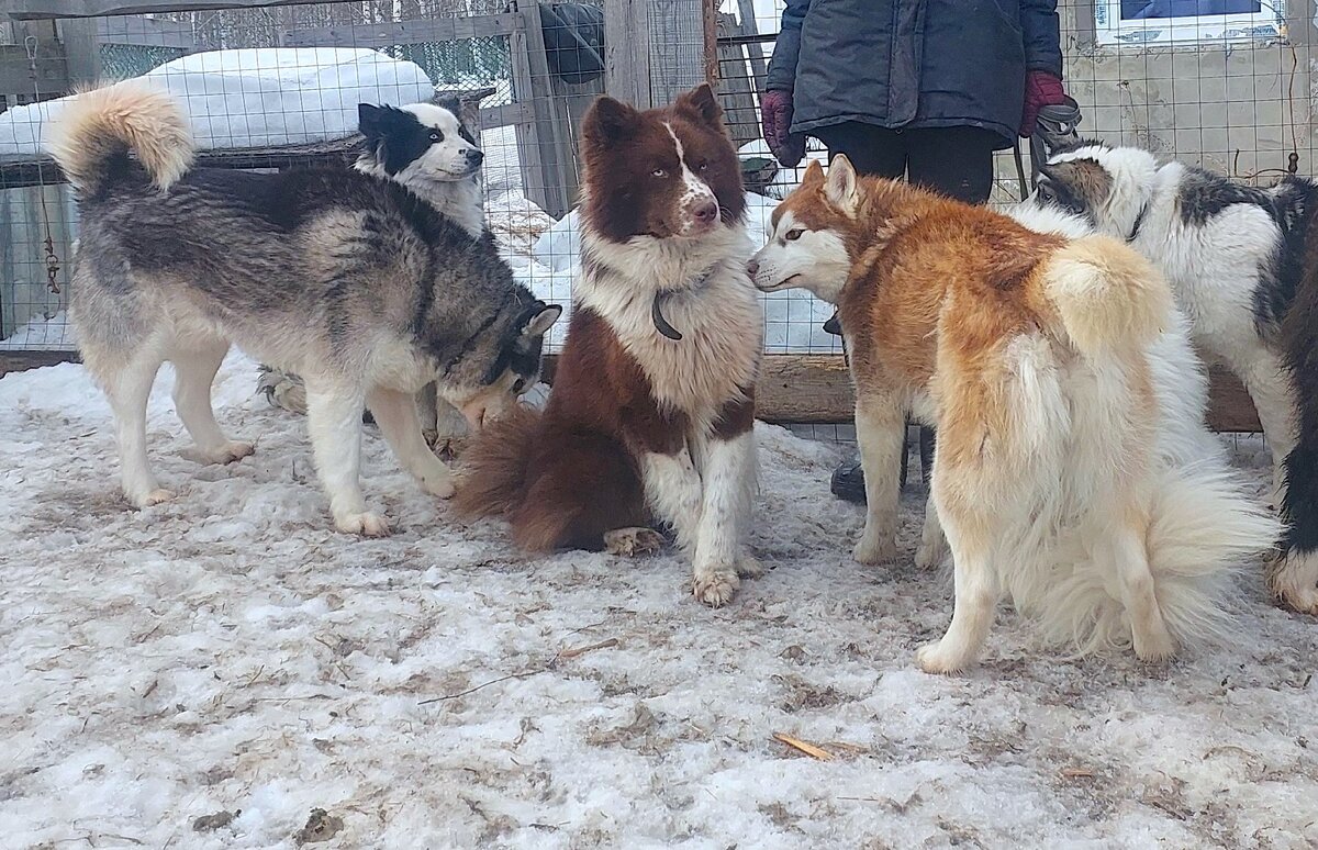
[[1108, 236], [1068, 242], [1044, 274], [1048, 298], [1085, 357], [1143, 349], [1173, 308], [1172, 290], [1152, 264]]

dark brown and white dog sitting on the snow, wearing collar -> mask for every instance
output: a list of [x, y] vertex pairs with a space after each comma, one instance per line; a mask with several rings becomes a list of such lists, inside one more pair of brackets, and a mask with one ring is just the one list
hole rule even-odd
[[583, 125], [583, 277], [543, 414], [467, 449], [456, 505], [526, 550], [654, 548], [654, 521], [728, 602], [758, 575], [742, 535], [755, 488], [763, 315], [745, 191], [709, 86], [662, 109], [598, 99]]

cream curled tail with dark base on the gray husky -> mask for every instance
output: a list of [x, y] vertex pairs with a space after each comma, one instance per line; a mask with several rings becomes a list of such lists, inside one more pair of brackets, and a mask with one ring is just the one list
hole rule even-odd
[[192, 167], [195, 145], [187, 116], [165, 91], [116, 83], [72, 98], [51, 125], [46, 149], [84, 195], [132, 169], [128, 152], [157, 188], [169, 188]]

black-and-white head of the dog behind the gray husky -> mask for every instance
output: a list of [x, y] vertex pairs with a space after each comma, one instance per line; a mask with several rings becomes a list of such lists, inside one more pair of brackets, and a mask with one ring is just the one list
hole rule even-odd
[[411, 177], [460, 181], [476, 174], [485, 154], [451, 108], [431, 103], [409, 107], [357, 108], [358, 129], [385, 174], [401, 182]]

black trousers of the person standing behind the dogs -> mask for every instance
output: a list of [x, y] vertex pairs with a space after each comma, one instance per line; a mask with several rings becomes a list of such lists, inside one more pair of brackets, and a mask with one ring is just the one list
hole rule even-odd
[[[979, 127], [937, 127], [890, 130], [847, 121], [820, 128], [813, 134], [828, 148], [829, 159], [844, 153], [861, 174], [902, 179], [971, 204], [988, 200], [992, 191], [992, 152], [1002, 136]], [[933, 428], [920, 428], [920, 477], [933, 469]], [[907, 480], [907, 452], [902, 452], [902, 486]]]

